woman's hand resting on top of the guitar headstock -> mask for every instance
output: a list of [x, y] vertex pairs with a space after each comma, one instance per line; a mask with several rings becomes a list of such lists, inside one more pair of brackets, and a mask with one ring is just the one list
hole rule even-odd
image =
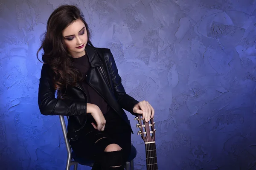
[[145, 119], [145, 122], [148, 122], [154, 117], [154, 108], [145, 100], [136, 104], [132, 111], [134, 113], [142, 114], [142, 119]]

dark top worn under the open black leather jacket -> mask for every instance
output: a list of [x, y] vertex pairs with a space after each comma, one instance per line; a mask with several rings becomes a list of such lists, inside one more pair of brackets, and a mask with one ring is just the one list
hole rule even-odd
[[107, 113], [109, 106], [108, 103], [86, 82], [87, 72], [90, 70], [90, 63], [87, 54], [82, 57], [73, 59], [73, 67], [81, 72], [83, 75], [82, 86], [87, 96], [87, 103], [92, 103], [99, 106], [103, 114]]

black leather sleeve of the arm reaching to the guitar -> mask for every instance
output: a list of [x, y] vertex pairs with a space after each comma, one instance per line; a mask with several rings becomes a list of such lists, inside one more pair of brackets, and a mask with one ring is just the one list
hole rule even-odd
[[129, 96], [125, 92], [125, 88], [122, 85], [122, 79], [118, 74], [118, 69], [116, 67], [116, 62], [114, 60], [113, 54], [111, 53], [110, 49], [107, 49], [107, 53], [105, 54], [105, 58], [108, 64], [108, 69], [111, 75], [111, 79], [114, 85], [114, 93], [116, 96], [116, 99], [121, 105], [123, 109], [126, 111], [132, 113], [133, 115], [137, 115], [132, 110], [134, 108], [134, 105], [139, 103], [137, 100], [135, 100], [133, 97]]

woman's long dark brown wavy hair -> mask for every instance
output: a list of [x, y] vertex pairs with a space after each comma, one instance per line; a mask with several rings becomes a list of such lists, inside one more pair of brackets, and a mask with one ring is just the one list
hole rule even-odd
[[[76, 20], [81, 20], [87, 30], [87, 45], [93, 46], [90, 41], [90, 31], [88, 24], [84, 20], [84, 15], [79, 8], [73, 5], [63, 5], [56, 8], [47, 21], [47, 30], [42, 35], [41, 47], [43, 49], [42, 61], [47, 63], [52, 71], [52, 82], [58, 95], [64, 96], [61, 90], [68, 85], [77, 85], [83, 79], [81, 73], [72, 67], [72, 57], [67, 51], [67, 47], [62, 36], [62, 31]], [[40, 61], [40, 59], [38, 58]], [[41, 61], [40, 61], [41, 62]]]

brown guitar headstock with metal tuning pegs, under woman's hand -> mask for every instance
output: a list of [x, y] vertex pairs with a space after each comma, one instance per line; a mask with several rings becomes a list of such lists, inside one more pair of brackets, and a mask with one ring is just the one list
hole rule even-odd
[[145, 119], [142, 119], [142, 116], [136, 116], [134, 120], [137, 120], [137, 128], [140, 128], [138, 135], [141, 135], [143, 141], [146, 142], [155, 142], [155, 129], [154, 129], [154, 120], [150, 119], [149, 122], [145, 122]]

